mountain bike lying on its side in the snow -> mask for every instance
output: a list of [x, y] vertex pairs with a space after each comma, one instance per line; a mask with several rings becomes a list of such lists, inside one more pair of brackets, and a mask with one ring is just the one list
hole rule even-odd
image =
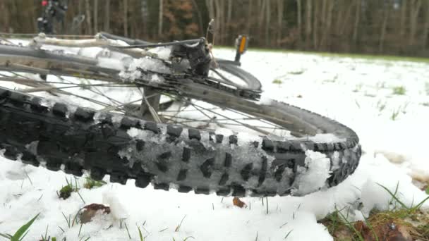
[[[238, 66], [217, 61], [233, 71], [213, 77], [210, 48], [205, 38], [152, 44], [105, 33], [40, 35], [28, 45], [6, 39], [0, 80], [21, 88], [0, 87], [0, 149], [7, 159], [89, 171], [95, 180], [108, 174], [115, 183], [135, 179], [137, 187], [235, 197], [304, 195], [354, 172], [361, 146], [353, 130], [261, 101], [259, 81]], [[124, 88], [131, 97], [120, 101], [123, 94], [114, 94]], [[58, 101], [64, 96], [78, 102]], [[313, 163], [330, 173], [318, 176], [319, 186], [310, 180], [318, 174]]]

